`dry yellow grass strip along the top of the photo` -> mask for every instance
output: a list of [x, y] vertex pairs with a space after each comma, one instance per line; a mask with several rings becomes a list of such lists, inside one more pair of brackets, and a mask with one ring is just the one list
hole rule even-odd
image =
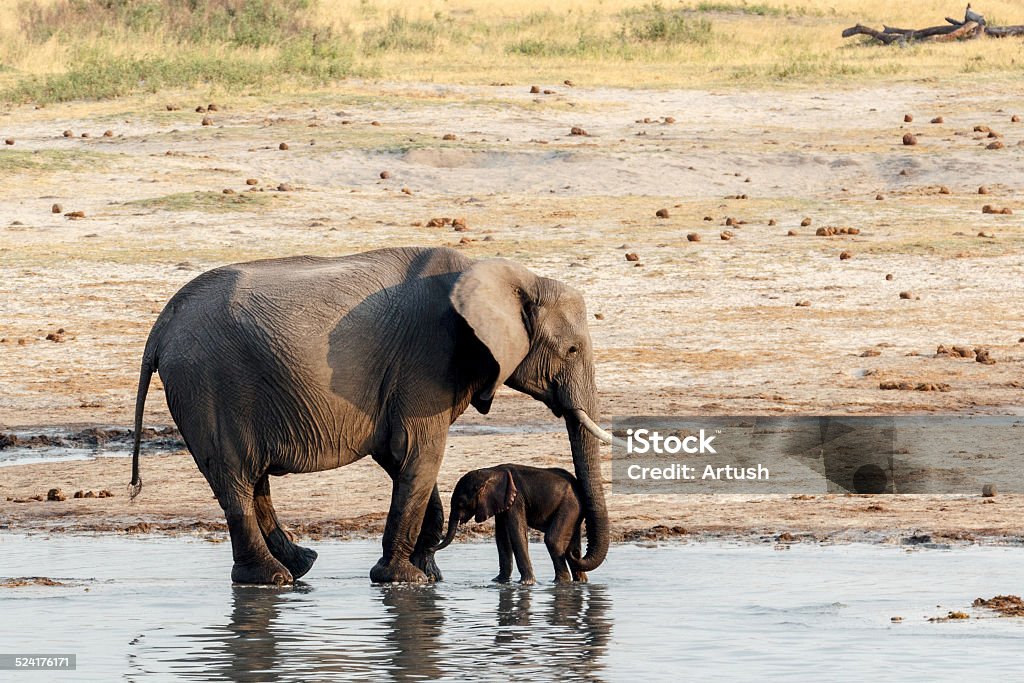
[[[59, 2], [33, 1], [42, 6]], [[975, 9], [993, 24], [1024, 24], [1024, 6], [1018, 2], [991, 0]], [[329, 41], [345, 58], [329, 77], [316, 72], [316, 78], [306, 78], [315, 70], [305, 61], [295, 74], [289, 73], [276, 61], [287, 45], [271, 42], [258, 47], [204, 44], [202, 53], [208, 59], [238, 60], [280, 72], [280, 78], [203, 80], [214, 81], [214, 87], [265, 91], [305, 89], [342, 73], [389, 81], [472, 84], [560, 83], [570, 78], [583, 85], [628, 87], [820, 86], [1018, 77], [1022, 44], [1017, 39], [901, 48], [867, 45], [840, 35], [858, 22], [920, 28], [942, 24], [944, 16], [963, 11], [959, 1], [936, 0], [604, 0], [554, 6], [540, 0], [427, 0], [415, 6], [400, 0], [317, 0], [308, 10], [310, 24], [321, 36], [330, 35]], [[328, 28], [330, 34], [324, 31]], [[664, 31], [668, 35], [659, 33]], [[140, 37], [124, 27], [110, 28], [103, 36], [57, 34], [33, 42], [18, 24], [17, 4], [0, 4], [0, 65], [5, 68], [0, 69], [0, 86], [74, 70], [83, 54], [159, 57], [186, 65], [196, 56], [196, 48], [159, 29]], [[174, 81], [174, 85], [185, 83]]]

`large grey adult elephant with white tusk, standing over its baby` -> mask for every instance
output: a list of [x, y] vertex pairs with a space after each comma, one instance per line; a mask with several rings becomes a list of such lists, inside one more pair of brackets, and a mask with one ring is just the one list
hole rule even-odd
[[374, 582], [440, 580], [437, 471], [449, 427], [486, 414], [502, 384], [543, 401], [568, 431], [585, 497], [587, 554], [608, 550], [594, 361], [583, 297], [504, 259], [398, 248], [227, 265], [185, 285], [142, 356], [133, 495], [150, 380], [230, 531], [231, 579], [287, 584], [312, 566], [278, 521], [268, 475], [319, 472], [370, 455], [391, 476]]

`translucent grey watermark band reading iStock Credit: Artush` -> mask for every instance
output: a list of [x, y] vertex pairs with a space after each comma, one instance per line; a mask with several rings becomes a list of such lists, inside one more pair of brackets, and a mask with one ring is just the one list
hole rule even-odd
[[629, 417], [612, 494], [1024, 493], [1024, 418]]

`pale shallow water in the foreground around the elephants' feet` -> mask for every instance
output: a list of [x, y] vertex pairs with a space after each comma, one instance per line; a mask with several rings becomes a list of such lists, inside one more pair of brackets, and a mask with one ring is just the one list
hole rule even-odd
[[[230, 547], [0, 537], [0, 653], [75, 653], [58, 680], [946, 680], [1024, 671], [1024, 549], [615, 546], [592, 583], [497, 587], [490, 544], [439, 555], [445, 582], [380, 587], [379, 546], [318, 543], [304, 585], [232, 587]], [[928, 623], [949, 610], [968, 621]], [[899, 624], [890, 622], [900, 615]], [[8, 675], [12, 676], [12, 675]], [[0, 674], [0, 678], [4, 678]], [[52, 680], [17, 674], [16, 680]], [[10, 680], [10, 679], [5, 679]]]

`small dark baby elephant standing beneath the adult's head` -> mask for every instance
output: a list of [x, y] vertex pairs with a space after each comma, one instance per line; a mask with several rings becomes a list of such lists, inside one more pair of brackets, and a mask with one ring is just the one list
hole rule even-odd
[[536, 583], [527, 551], [528, 528], [544, 531], [556, 582], [587, 581], [587, 574], [577, 570], [572, 561], [580, 557], [584, 515], [577, 479], [565, 470], [499, 465], [467, 472], [452, 493], [447, 533], [434, 550], [446, 548], [459, 525], [474, 515], [478, 522], [495, 518], [499, 566], [496, 582], [509, 582], [514, 555], [519, 583]]

